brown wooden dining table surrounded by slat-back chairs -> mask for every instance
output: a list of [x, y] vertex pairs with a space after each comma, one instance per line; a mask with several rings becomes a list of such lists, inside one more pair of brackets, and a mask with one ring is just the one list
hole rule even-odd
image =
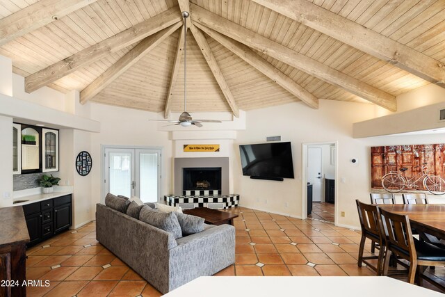
[[417, 232], [445, 240], [445, 204], [379, 204], [378, 207], [407, 215], [411, 227]]

